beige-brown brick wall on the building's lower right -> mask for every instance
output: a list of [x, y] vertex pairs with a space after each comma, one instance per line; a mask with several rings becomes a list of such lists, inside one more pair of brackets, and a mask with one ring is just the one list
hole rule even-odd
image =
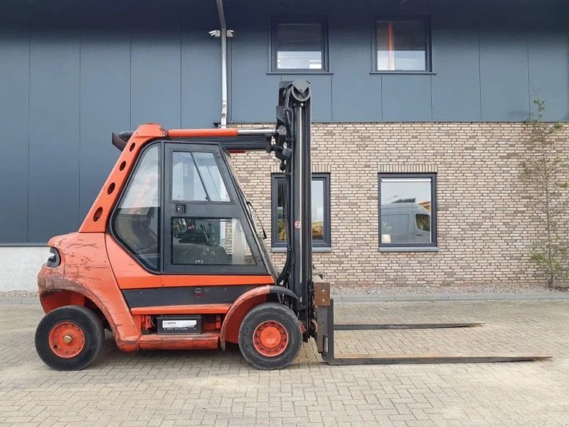
[[[332, 239], [332, 251], [314, 253], [314, 264], [332, 284], [545, 285], [528, 257], [543, 229], [521, 179], [527, 125], [316, 123], [312, 132], [313, 172], [331, 175]], [[560, 138], [569, 152], [568, 126]], [[254, 152], [233, 162], [270, 236], [277, 159]], [[378, 251], [379, 172], [437, 174], [440, 251]], [[272, 253], [277, 268], [284, 257]]]

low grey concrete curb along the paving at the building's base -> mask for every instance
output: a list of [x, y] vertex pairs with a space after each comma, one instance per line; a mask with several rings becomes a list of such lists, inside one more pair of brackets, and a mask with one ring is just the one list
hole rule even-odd
[[[569, 292], [415, 295], [333, 295], [336, 302], [569, 300]], [[38, 297], [0, 297], [0, 304], [39, 305]]]

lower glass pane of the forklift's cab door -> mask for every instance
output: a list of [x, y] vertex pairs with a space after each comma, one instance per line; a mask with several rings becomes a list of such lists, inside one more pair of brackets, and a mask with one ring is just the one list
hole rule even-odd
[[172, 218], [172, 264], [255, 265], [238, 218]]

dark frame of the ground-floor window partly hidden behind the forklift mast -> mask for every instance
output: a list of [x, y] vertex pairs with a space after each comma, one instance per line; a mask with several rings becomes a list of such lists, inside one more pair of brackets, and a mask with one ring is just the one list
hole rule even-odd
[[[329, 173], [312, 173], [312, 180], [324, 181], [324, 239], [312, 240], [312, 248], [330, 249], [332, 247], [331, 239], [331, 209], [330, 209], [330, 174]], [[285, 180], [285, 174], [271, 174], [271, 248], [286, 248], [286, 241], [277, 239], [277, 185], [279, 181]], [[312, 184], [312, 182], [311, 182]], [[312, 185], [311, 185], [312, 189]]]

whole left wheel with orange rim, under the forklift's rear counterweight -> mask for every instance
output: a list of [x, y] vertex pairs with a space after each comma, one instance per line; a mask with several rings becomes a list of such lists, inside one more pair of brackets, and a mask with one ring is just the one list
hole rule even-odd
[[83, 369], [97, 359], [105, 339], [102, 322], [92, 310], [66, 305], [49, 312], [36, 329], [36, 351], [58, 371]]

